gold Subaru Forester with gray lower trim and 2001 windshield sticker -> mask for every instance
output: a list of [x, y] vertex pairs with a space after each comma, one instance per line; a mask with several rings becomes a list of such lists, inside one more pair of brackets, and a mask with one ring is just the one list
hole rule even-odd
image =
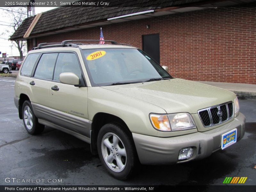
[[173, 78], [136, 47], [75, 42], [28, 52], [14, 97], [28, 133], [48, 125], [90, 143], [121, 180], [139, 163], [202, 159], [243, 138], [233, 92]]

